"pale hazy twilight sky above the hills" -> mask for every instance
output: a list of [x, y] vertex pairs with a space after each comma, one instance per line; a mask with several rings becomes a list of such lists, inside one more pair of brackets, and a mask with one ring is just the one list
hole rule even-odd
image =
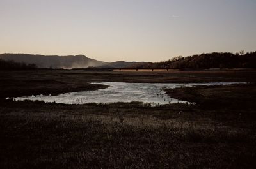
[[164, 61], [256, 50], [256, 0], [0, 0], [0, 54]]

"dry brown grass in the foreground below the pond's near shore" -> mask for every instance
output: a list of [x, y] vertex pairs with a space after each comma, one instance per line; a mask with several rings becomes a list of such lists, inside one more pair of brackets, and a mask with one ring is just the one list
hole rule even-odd
[[[191, 105], [57, 105], [0, 109], [1, 168], [255, 168], [255, 122]], [[216, 117], [216, 115], [218, 117]]]

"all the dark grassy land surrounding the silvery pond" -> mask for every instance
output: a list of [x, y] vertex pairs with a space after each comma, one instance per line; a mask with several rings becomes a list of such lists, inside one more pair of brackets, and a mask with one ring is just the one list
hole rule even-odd
[[[256, 70], [0, 71], [0, 168], [256, 168]], [[196, 103], [64, 105], [6, 97], [89, 82], [248, 82], [167, 90]]]

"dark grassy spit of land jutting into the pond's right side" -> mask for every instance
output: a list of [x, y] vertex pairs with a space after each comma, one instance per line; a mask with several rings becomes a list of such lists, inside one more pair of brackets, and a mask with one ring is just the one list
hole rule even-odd
[[200, 108], [209, 110], [223, 108], [244, 109], [253, 108], [256, 110], [256, 85], [233, 84], [199, 87], [181, 87], [166, 89], [168, 95], [180, 100], [186, 100]]

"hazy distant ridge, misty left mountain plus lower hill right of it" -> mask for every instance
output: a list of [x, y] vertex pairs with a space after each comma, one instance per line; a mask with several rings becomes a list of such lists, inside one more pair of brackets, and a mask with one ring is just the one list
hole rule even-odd
[[41, 54], [0, 54], [0, 59], [25, 64], [35, 64], [38, 68], [129, 68], [134, 64], [146, 62], [104, 62], [86, 57], [86, 55], [41, 55]]

